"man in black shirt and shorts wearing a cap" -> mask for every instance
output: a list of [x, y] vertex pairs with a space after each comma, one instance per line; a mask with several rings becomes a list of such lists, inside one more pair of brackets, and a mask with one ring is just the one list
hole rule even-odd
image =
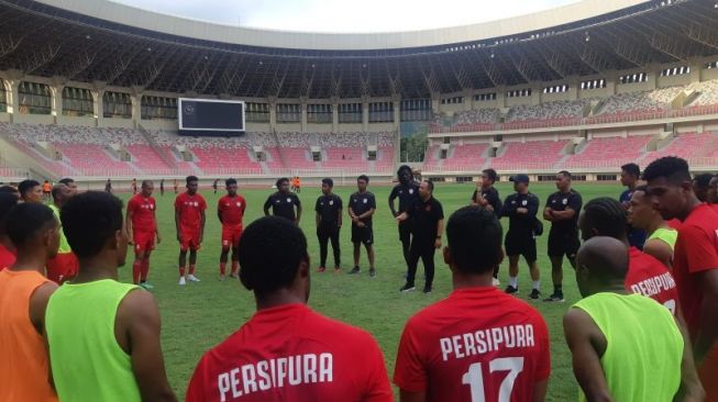
[[519, 256], [523, 256], [529, 265], [532, 280], [529, 298], [537, 300], [541, 297], [534, 238], [539, 198], [529, 192], [529, 176], [516, 175], [511, 176], [509, 180], [513, 182], [516, 193], [506, 198], [501, 210], [501, 216], [509, 219], [509, 230], [504, 242], [506, 254], [509, 256], [509, 286], [506, 288], [506, 292], [519, 291]]

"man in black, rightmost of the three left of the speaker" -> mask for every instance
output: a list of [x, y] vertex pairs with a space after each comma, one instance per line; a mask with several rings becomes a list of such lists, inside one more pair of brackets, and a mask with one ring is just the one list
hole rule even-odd
[[364, 244], [366, 256], [369, 259], [369, 277], [376, 276], [374, 268], [374, 231], [372, 230], [372, 215], [376, 211], [376, 199], [366, 190], [369, 178], [365, 175], [356, 178], [358, 191], [349, 199], [349, 216], [352, 219], [352, 243], [354, 244], [354, 268], [351, 275], [360, 272], [358, 259]]

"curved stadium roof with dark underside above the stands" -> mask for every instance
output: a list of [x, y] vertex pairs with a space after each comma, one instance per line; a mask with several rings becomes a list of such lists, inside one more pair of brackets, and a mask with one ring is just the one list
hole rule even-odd
[[246, 98], [428, 98], [718, 54], [715, 0], [586, 0], [385, 34], [243, 29], [104, 0], [0, 0], [0, 69]]

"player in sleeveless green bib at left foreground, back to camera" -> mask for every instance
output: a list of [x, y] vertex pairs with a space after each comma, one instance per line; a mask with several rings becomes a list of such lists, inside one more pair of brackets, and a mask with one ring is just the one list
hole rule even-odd
[[128, 250], [122, 202], [90, 191], [67, 201], [60, 216], [80, 270], [53, 293], [45, 313], [59, 400], [175, 401], [154, 298], [118, 281]]

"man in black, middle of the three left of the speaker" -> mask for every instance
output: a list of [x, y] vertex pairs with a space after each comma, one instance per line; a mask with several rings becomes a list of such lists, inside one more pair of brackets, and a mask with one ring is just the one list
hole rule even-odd
[[339, 248], [339, 231], [342, 228], [342, 199], [332, 192], [334, 181], [322, 179], [321, 192], [317, 199], [314, 211], [317, 211], [317, 238], [319, 239], [319, 268], [318, 272], [327, 270], [328, 243], [332, 242], [334, 252], [334, 272], [339, 272], [341, 264], [341, 252]]

